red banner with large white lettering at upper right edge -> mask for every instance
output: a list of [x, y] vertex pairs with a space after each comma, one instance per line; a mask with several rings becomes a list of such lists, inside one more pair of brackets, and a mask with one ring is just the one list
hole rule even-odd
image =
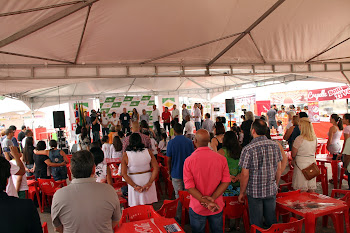
[[348, 86], [309, 90], [308, 92], [309, 102], [347, 99], [347, 98], [350, 98], [350, 87]]

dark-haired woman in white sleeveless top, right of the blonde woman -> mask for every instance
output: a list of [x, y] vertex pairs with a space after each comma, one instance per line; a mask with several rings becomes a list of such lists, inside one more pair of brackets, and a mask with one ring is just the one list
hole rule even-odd
[[332, 126], [328, 131], [327, 150], [335, 159], [335, 156], [341, 152], [340, 137], [343, 131], [343, 120], [338, 114], [332, 114], [329, 121], [332, 123]]

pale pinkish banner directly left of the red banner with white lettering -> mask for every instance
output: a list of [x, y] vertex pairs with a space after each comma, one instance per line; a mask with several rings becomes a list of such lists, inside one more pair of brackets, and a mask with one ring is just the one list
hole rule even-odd
[[271, 104], [289, 106], [291, 104], [302, 104], [308, 101], [308, 91], [285, 91], [270, 94]]

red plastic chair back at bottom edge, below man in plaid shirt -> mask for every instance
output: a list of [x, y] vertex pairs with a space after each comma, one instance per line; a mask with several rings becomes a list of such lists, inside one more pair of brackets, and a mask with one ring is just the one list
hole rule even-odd
[[301, 233], [301, 229], [303, 228], [303, 222], [304, 219], [297, 220], [295, 218], [291, 218], [290, 222], [273, 224], [269, 229], [262, 229], [256, 225], [252, 225], [251, 233], [256, 233], [258, 231], [260, 231], [261, 233]]

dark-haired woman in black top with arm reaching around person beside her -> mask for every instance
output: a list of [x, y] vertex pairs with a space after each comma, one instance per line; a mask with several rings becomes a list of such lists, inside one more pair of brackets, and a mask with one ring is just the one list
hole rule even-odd
[[[36, 150], [46, 150], [46, 143], [44, 141], [39, 141]], [[34, 151], [35, 153], [35, 151]], [[61, 167], [65, 166], [66, 163], [52, 163], [47, 155], [34, 154], [34, 175], [35, 179], [50, 179], [51, 175], [48, 174], [47, 166], [50, 167]]]

